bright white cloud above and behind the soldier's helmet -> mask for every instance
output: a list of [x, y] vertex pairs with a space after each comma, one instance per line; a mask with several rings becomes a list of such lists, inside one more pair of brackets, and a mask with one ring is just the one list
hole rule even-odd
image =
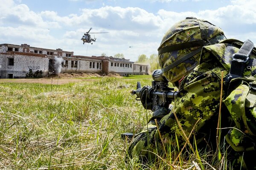
[[[221, 27], [226, 35], [234, 35], [255, 32], [256, 28], [256, 1], [255, 0], [233, 0], [229, 6], [223, 6], [215, 10], [203, 10], [198, 12], [173, 12], [159, 10], [158, 15], [163, 20], [164, 29], [172, 26], [186, 17], [197, 17], [208, 20], [212, 24]], [[168, 23], [168, 24], [166, 24]], [[235, 36], [236, 37], [236, 36]]]

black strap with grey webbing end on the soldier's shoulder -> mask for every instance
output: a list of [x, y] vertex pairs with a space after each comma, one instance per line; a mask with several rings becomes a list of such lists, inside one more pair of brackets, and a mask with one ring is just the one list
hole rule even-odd
[[230, 72], [227, 74], [226, 83], [228, 84], [231, 79], [243, 77], [244, 68], [246, 66], [246, 62], [249, 59], [249, 55], [253, 50], [253, 42], [250, 40], [246, 40], [244, 44], [241, 46], [239, 51], [232, 56]]

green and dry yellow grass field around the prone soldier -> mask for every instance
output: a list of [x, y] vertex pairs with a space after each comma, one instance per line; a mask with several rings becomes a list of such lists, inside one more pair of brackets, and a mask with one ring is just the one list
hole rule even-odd
[[[0, 83], [0, 169], [142, 169], [125, 161], [128, 141], [120, 138], [138, 133], [151, 115], [130, 94], [137, 81], [151, 85], [151, 76], [64, 85]], [[175, 165], [170, 158], [143, 168], [209, 167], [198, 157], [187, 161], [181, 155]]]

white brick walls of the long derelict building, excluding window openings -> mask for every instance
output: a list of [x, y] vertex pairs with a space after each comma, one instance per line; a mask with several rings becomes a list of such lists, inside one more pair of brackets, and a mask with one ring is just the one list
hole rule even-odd
[[[12, 51], [8, 51], [8, 47], [12, 48]], [[15, 48], [18, 48], [18, 52], [15, 51]], [[23, 49], [26, 48], [23, 53]], [[16, 49], [17, 50], [17, 49]], [[35, 51], [36, 50], [36, 51]], [[39, 51], [42, 51], [42, 55]], [[35, 48], [29, 46], [21, 46], [21, 45], [12, 45], [12, 44], [3, 44], [0, 46], [0, 78], [7, 78], [7, 74], [13, 74], [14, 78], [25, 77], [26, 73], [29, 72], [29, 68], [32, 71], [41, 70], [44, 75], [48, 74], [49, 71], [49, 59], [53, 59], [52, 56], [47, 55], [47, 52], [52, 52], [53, 56], [61, 55], [65, 60], [68, 61], [68, 67], [62, 67], [61, 72], [65, 73], [81, 73], [81, 72], [101, 72], [103, 61], [99, 59], [85, 59], [85, 58], [73, 58], [66, 57], [66, 54], [70, 54], [73, 56], [72, 51], [61, 51], [61, 50], [51, 50], [44, 48]], [[37, 54], [34, 54], [37, 53]], [[44, 54], [44, 55], [43, 55]], [[35, 56], [31, 56], [35, 55]], [[14, 65], [8, 64], [8, 58], [14, 58]], [[73, 61], [73, 67], [71, 67], [71, 62]], [[77, 65], [76, 65], [77, 62]], [[91, 63], [91, 64], [90, 64]], [[94, 67], [93, 67], [94, 63]], [[105, 62], [104, 62], [105, 63]], [[104, 71], [109, 73], [118, 73], [120, 75], [127, 74], [146, 74], [148, 71], [146, 65], [134, 64], [129, 60], [125, 59], [114, 59], [109, 58], [108, 62], [108, 70], [105, 68]], [[112, 64], [111, 64], [112, 63]], [[98, 67], [97, 67], [98, 64]], [[76, 65], [76, 67], [75, 67]], [[141, 69], [140, 69], [141, 68]]]

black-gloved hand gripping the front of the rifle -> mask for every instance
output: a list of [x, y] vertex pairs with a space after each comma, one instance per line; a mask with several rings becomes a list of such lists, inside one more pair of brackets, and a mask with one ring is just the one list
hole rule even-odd
[[144, 86], [140, 91], [140, 102], [147, 110], [152, 110], [153, 107], [152, 98], [149, 96], [151, 90], [153, 90], [151, 86]]

